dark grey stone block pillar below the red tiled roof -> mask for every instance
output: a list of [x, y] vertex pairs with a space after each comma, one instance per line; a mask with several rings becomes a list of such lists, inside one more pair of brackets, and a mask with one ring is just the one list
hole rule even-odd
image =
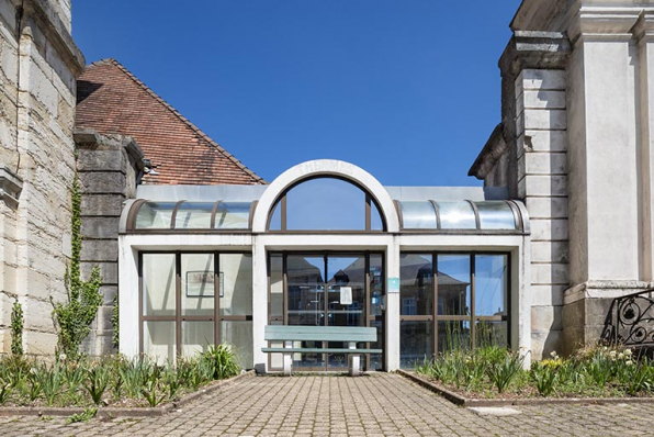
[[128, 136], [98, 135], [91, 130], [78, 130], [75, 142], [79, 150], [77, 169], [82, 192], [82, 279], [87, 280], [91, 269], [98, 266], [103, 282], [103, 303], [82, 350], [101, 356], [115, 352], [111, 316], [119, 291], [119, 221], [123, 202], [136, 195], [144, 156]]

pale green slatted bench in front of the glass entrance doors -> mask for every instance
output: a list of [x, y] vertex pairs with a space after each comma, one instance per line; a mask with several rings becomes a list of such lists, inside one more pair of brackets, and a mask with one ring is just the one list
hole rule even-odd
[[[357, 349], [357, 343], [375, 343], [376, 328], [362, 326], [266, 326], [266, 340], [283, 341], [284, 347], [261, 348], [267, 354], [284, 355], [284, 374], [291, 374], [293, 354], [347, 354], [349, 374], [361, 372], [361, 354], [382, 354], [382, 349]], [[348, 348], [303, 348], [294, 341], [342, 341]]]

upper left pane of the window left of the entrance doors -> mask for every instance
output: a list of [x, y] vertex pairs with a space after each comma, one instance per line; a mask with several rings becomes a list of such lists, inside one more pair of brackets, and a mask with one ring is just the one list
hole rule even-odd
[[174, 254], [143, 254], [143, 314], [174, 316]]

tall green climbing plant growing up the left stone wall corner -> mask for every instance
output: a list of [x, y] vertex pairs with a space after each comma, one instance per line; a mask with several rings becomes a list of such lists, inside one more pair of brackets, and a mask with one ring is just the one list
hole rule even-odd
[[79, 347], [89, 335], [89, 325], [95, 318], [102, 303], [100, 269], [94, 267], [88, 281], [81, 279], [81, 191], [77, 177], [72, 182], [71, 257], [66, 268], [64, 283], [67, 301], [53, 304], [53, 317], [58, 326], [57, 350], [74, 359], [79, 356]]

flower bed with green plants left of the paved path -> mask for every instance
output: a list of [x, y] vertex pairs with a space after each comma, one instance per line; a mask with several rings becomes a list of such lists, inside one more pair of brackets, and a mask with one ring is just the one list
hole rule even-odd
[[239, 371], [234, 354], [223, 345], [178, 359], [176, 366], [157, 366], [148, 357], [72, 361], [60, 356], [48, 365], [7, 356], [0, 359], [0, 406], [154, 407]]

